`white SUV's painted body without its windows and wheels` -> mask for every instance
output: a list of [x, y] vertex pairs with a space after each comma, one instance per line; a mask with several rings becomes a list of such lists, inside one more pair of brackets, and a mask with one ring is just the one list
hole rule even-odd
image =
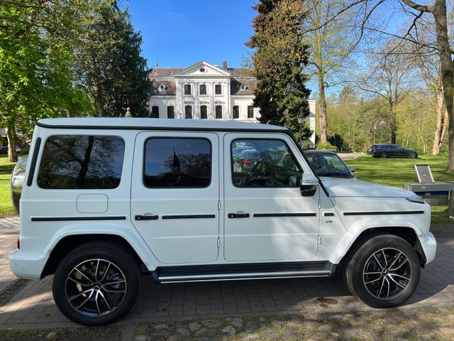
[[[40, 188], [37, 177], [43, 146], [55, 135], [120, 136], [125, 149], [118, 187]], [[144, 185], [145, 142], [169, 137], [209, 141], [208, 186], [162, 189]], [[338, 178], [319, 179], [310, 196], [301, 196], [299, 187], [238, 188], [233, 185], [231, 166], [231, 146], [238, 139], [282, 141], [304, 176], [314, 178], [292, 134], [279, 126], [179, 119], [40, 120], [21, 193], [20, 249], [10, 256], [11, 270], [21, 278], [52, 274], [55, 268], [47, 268], [50, 261], [58, 263], [50, 260], [52, 251], [62, 240], [77, 236], [84, 241], [92, 236], [122, 241], [161, 282], [331, 276], [360, 235], [376, 230], [414, 234], [410, 238], [421, 265], [434, 259], [431, 208], [407, 200], [414, 193]], [[242, 219], [230, 219], [233, 215]], [[60, 254], [60, 260], [65, 255]], [[301, 266], [290, 269], [292, 263]], [[236, 264], [267, 266], [250, 273], [225, 271], [226, 266]], [[282, 271], [271, 271], [272, 264], [277, 269], [284, 264]], [[189, 266], [221, 270], [218, 274], [184, 271], [192, 269]]]

